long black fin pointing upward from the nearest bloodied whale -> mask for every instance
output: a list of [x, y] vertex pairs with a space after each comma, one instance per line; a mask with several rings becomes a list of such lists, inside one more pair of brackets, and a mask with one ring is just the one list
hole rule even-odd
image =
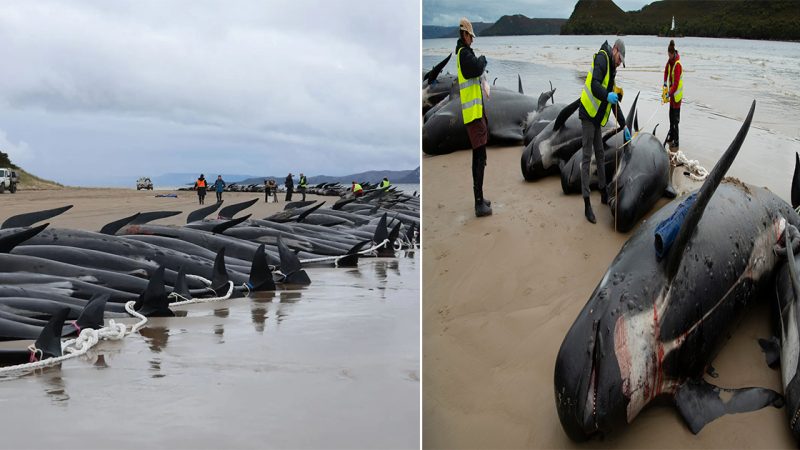
[[742, 127], [739, 129], [739, 132], [736, 134], [733, 142], [731, 142], [731, 145], [727, 150], [725, 150], [725, 153], [711, 170], [708, 178], [706, 178], [706, 181], [703, 183], [703, 186], [700, 187], [700, 190], [697, 193], [697, 199], [695, 200], [689, 212], [686, 213], [686, 218], [681, 224], [680, 231], [678, 231], [678, 235], [675, 237], [675, 241], [672, 244], [669, 256], [666, 258], [666, 274], [668, 280], [671, 280], [675, 276], [683, 256], [683, 251], [686, 249], [689, 239], [694, 234], [697, 224], [703, 217], [705, 208], [708, 206], [708, 202], [711, 201], [711, 196], [714, 195], [714, 191], [717, 190], [717, 187], [719, 186], [720, 182], [722, 182], [722, 178], [725, 177], [725, 173], [728, 171], [728, 168], [730, 168], [731, 164], [733, 164], [733, 160], [739, 153], [739, 149], [742, 148], [744, 138], [747, 137], [747, 131], [750, 129], [750, 122], [753, 121], [753, 113], [755, 110], [756, 101], [753, 100], [753, 104], [750, 106], [750, 112], [747, 114], [747, 118], [744, 120]]

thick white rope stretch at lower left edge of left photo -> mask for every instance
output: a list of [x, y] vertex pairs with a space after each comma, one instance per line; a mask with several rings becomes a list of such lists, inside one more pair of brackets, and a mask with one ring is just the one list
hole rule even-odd
[[[125, 304], [125, 310], [138, 319], [139, 322], [128, 327], [123, 323], [116, 323], [114, 319], [109, 320], [108, 326], [93, 330], [91, 328], [84, 328], [80, 331], [77, 338], [69, 339], [61, 343], [61, 356], [55, 358], [43, 359], [33, 361], [25, 364], [17, 364], [15, 366], [8, 366], [0, 368], [0, 374], [6, 374], [17, 371], [35, 370], [42, 367], [54, 366], [77, 356], [85, 355], [92, 347], [97, 345], [101, 340], [120, 340], [125, 336], [137, 332], [144, 324], [147, 323], [147, 317], [139, 314], [133, 310], [135, 302], [130, 301]], [[42, 351], [35, 347], [35, 344], [28, 346], [32, 357], [41, 357]]]

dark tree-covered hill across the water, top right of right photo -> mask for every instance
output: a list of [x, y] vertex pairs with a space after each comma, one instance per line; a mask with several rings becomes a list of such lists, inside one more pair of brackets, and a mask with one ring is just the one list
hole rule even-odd
[[800, 0], [660, 0], [624, 12], [612, 0], [579, 0], [561, 34], [670, 34], [800, 40]]

